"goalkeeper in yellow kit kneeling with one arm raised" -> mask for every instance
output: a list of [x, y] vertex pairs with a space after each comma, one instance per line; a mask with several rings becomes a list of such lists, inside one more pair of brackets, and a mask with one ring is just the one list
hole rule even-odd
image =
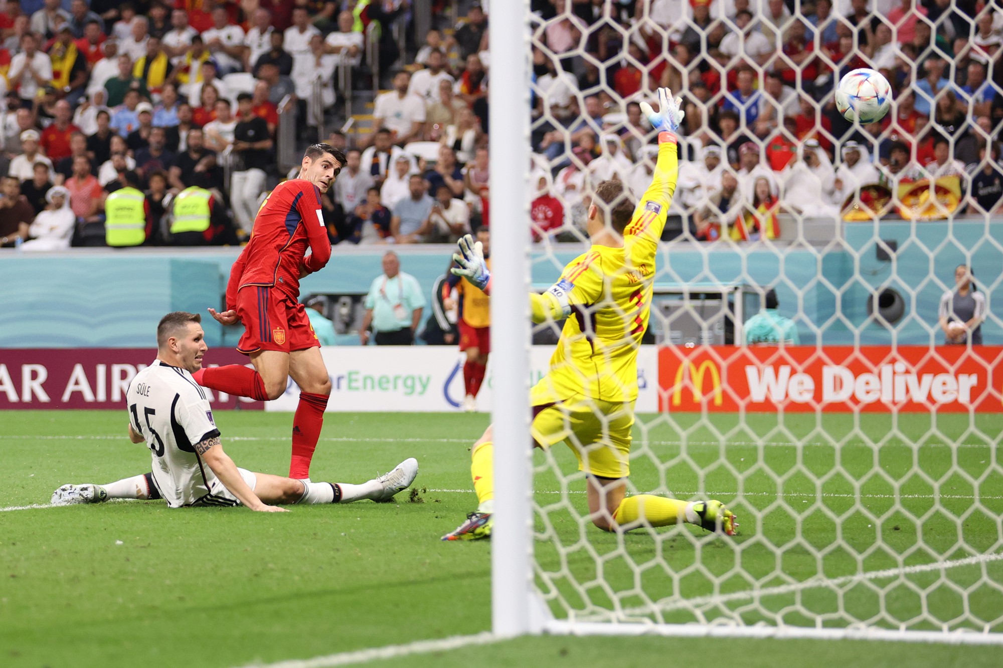
[[[637, 352], [648, 326], [658, 241], [679, 174], [676, 136], [683, 111], [659, 88], [659, 111], [642, 109], [659, 130], [658, 162], [636, 207], [618, 181], [596, 188], [587, 232], [592, 247], [572, 261], [543, 295], [531, 294], [533, 321], [567, 318], [550, 372], [532, 390], [532, 434], [539, 447], [566, 441], [588, 479], [589, 513], [605, 531], [678, 522], [734, 535], [735, 516], [720, 502], [687, 503], [655, 494], [626, 495], [631, 427], [637, 400]], [[452, 272], [490, 292], [480, 244], [466, 236]], [[491, 427], [473, 444], [473, 488], [479, 506], [443, 541], [491, 534], [494, 484]]]

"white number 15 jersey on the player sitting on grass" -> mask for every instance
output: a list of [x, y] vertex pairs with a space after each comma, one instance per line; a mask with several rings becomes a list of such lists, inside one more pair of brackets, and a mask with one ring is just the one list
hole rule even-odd
[[195, 450], [195, 443], [220, 435], [206, 392], [185, 369], [159, 360], [132, 378], [125, 394], [132, 428], [146, 438], [153, 457], [153, 482], [171, 508], [234, 506], [212, 494], [223, 487]]

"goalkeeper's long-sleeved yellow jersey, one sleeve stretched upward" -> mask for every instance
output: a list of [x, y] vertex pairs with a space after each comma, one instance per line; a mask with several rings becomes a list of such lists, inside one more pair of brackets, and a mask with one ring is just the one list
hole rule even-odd
[[663, 133], [651, 185], [624, 231], [622, 248], [594, 245], [543, 295], [534, 321], [567, 317], [550, 371], [534, 391], [542, 405], [580, 395], [637, 399], [637, 353], [651, 314], [658, 241], [679, 174], [675, 137]]

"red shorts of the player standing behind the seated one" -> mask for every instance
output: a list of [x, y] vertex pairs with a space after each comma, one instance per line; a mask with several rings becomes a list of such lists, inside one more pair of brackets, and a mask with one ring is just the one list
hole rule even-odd
[[244, 323], [244, 336], [237, 350], [292, 352], [319, 347], [306, 307], [275, 288], [249, 285], [237, 293], [237, 315]]

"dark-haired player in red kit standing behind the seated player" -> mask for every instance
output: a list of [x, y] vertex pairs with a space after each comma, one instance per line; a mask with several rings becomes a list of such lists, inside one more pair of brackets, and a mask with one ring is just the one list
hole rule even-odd
[[251, 241], [230, 270], [227, 310], [209, 309], [224, 325], [243, 323], [237, 349], [251, 358], [254, 369], [230, 364], [193, 374], [201, 385], [259, 401], [282, 396], [292, 377], [300, 387], [300, 403], [293, 417], [289, 477], [299, 479], [310, 477], [331, 394], [320, 342], [299, 303], [300, 279], [331, 258], [320, 196], [344, 163], [345, 155], [330, 144], [307, 148], [299, 177], [279, 184], [255, 218]]

